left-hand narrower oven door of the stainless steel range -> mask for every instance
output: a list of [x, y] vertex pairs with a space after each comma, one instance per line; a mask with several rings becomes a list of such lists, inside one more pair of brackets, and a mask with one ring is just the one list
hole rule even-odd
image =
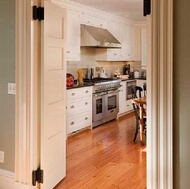
[[93, 94], [92, 121], [98, 121], [104, 118], [105, 92]]

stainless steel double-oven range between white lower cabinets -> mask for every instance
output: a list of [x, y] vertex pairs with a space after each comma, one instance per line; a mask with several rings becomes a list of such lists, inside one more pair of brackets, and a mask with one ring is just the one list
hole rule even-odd
[[120, 79], [94, 78], [92, 126], [117, 118]]

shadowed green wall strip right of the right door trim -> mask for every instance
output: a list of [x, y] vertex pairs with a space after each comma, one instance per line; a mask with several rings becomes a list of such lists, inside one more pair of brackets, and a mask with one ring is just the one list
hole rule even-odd
[[174, 189], [190, 188], [190, 1], [174, 0]]

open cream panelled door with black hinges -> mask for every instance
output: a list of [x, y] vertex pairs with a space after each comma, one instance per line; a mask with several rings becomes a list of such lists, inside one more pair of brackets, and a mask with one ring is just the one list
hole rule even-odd
[[41, 169], [43, 189], [66, 175], [66, 10], [44, 1], [41, 22]]

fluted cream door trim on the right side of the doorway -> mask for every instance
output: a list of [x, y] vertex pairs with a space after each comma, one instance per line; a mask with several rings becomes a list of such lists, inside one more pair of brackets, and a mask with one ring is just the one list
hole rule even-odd
[[173, 188], [173, 0], [148, 17], [147, 188]]

